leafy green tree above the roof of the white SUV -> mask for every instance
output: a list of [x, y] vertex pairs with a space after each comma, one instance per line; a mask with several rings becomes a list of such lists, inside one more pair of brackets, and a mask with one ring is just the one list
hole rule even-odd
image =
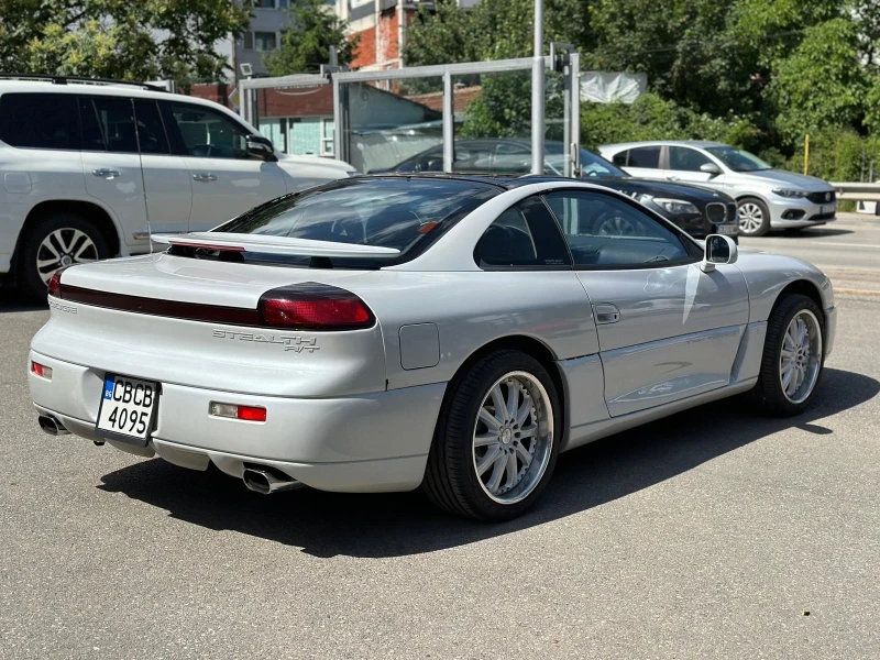
[[0, 0], [0, 69], [215, 80], [249, 20], [232, 0]]

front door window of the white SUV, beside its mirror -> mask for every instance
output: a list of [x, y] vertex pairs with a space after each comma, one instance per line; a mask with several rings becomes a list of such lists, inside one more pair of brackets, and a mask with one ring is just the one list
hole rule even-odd
[[184, 154], [208, 158], [248, 158], [248, 132], [221, 112], [195, 103], [170, 103]]

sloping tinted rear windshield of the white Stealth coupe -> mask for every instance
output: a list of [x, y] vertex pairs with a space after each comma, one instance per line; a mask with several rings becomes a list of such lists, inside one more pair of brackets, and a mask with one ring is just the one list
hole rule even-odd
[[430, 242], [499, 191], [486, 184], [440, 178], [346, 179], [284, 197], [213, 231], [394, 248], [406, 253]]

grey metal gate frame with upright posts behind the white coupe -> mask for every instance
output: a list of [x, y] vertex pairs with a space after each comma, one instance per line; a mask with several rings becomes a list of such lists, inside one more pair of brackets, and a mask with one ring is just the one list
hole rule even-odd
[[[551, 48], [553, 55], [544, 56], [544, 73], [547, 69], [561, 72], [563, 74], [564, 91], [564, 114], [563, 114], [563, 140], [565, 143], [566, 158], [564, 165], [565, 176], [580, 176], [581, 158], [581, 65], [580, 54], [573, 50], [562, 48], [559, 54]], [[333, 86], [333, 127], [334, 127], [334, 151], [336, 157], [341, 161], [349, 161], [350, 134], [351, 129], [349, 112], [348, 85], [353, 82], [377, 82], [382, 80], [411, 80], [417, 78], [442, 78], [443, 79], [443, 172], [452, 172], [454, 160], [454, 88], [452, 77], [475, 74], [495, 74], [506, 72], [534, 70], [534, 57], [519, 57], [516, 59], [491, 59], [486, 62], [465, 62], [459, 64], [441, 64], [433, 66], [414, 66], [397, 69], [371, 70], [371, 72], [332, 72], [323, 74], [302, 74], [293, 76], [280, 76], [274, 78], [246, 78], [240, 80], [239, 86], [242, 90], [242, 116], [245, 121], [254, 124], [256, 116], [254, 106], [254, 92], [257, 89], [290, 89], [296, 87], [317, 87], [321, 85]], [[541, 85], [543, 88], [543, 85]], [[541, 99], [543, 100], [543, 99]], [[532, 122], [535, 112], [540, 114], [540, 124], [544, 123], [543, 102], [540, 108], [535, 107], [532, 98]], [[544, 136], [543, 131], [532, 131], [531, 136], [532, 154], [543, 154]], [[532, 174], [543, 174], [535, 172], [532, 163]]]

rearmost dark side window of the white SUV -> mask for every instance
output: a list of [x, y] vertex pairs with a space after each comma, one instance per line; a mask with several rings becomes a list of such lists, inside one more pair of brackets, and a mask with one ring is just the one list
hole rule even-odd
[[79, 148], [76, 97], [69, 94], [4, 94], [0, 140], [30, 148]]

